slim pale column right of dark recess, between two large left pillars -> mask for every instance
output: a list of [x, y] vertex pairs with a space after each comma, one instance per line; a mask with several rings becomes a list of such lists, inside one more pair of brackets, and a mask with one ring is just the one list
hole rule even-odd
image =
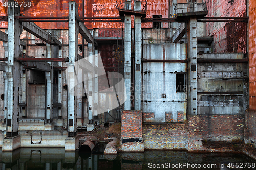
[[[46, 43], [47, 58], [51, 58], [51, 45]], [[52, 65], [52, 62], [48, 62]], [[45, 72], [46, 75], [46, 120], [52, 122], [52, 102], [53, 102], [53, 70]]]

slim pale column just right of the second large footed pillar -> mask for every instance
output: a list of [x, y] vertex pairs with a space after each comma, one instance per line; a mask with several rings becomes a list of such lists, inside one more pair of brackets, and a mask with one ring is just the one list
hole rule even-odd
[[94, 129], [93, 126], [93, 115], [94, 115], [94, 64], [95, 64], [95, 58], [94, 58], [94, 49], [93, 49], [93, 43], [88, 43], [88, 61], [92, 63], [93, 70], [92, 72], [88, 73], [88, 91], [89, 91], [89, 115], [88, 120], [89, 124], [87, 124], [87, 131], [92, 131]]

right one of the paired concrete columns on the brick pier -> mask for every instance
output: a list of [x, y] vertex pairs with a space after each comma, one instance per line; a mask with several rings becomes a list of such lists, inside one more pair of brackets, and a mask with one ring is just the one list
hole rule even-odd
[[[141, 2], [135, 1], [134, 9], [141, 10]], [[135, 16], [135, 69], [134, 69], [134, 110], [141, 110], [141, 17]]]

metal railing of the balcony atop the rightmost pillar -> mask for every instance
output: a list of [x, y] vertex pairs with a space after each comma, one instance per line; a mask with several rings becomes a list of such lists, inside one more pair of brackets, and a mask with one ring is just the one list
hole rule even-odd
[[174, 7], [174, 16], [177, 15], [178, 13], [200, 12], [200, 11], [207, 11], [206, 2], [179, 3], [179, 4], [176, 4]]

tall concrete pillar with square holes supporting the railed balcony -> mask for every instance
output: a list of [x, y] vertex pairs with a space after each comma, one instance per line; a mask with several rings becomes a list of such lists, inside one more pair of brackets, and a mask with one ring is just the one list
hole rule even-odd
[[197, 19], [190, 18], [187, 25], [188, 59], [188, 114], [197, 115]]

